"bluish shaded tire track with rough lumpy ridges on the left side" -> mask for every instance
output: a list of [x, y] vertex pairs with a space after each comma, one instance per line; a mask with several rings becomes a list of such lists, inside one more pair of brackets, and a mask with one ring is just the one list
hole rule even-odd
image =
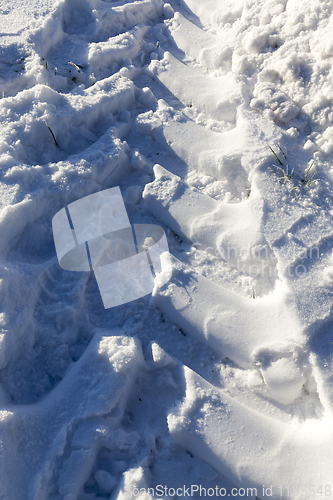
[[[2, 160], [6, 160], [3, 164], [5, 173], [2, 178], [3, 189], [6, 192], [8, 185], [13, 185], [17, 189], [10, 200], [10, 207], [4, 204], [1, 222], [3, 227], [8, 226], [10, 230], [2, 238], [1, 252], [4, 266], [8, 266], [12, 273], [13, 293], [9, 294], [8, 298], [11, 299], [15, 297], [15, 293], [19, 293], [24, 303], [24, 307], [20, 309], [17, 307], [20, 304], [13, 300], [13, 307], [7, 307], [8, 317], [1, 317], [4, 335], [2, 347], [8, 344], [8, 349], [2, 350], [7, 366], [2, 372], [1, 391], [3, 403], [1, 432], [4, 445], [1, 495], [6, 499], [10, 496], [13, 500], [21, 498], [42, 500], [52, 497], [67, 500], [68, 495], [70, 498], [85, 498], [87, 495], [90, 498], [94, 497], [93, 493], [84, 492], [87, 488], [88, 491], [90, 489], [104, 498], [115, 490], [116, 496], [115, 487], [121, 473], [138, 464], [137, 433], [125, 431], [123, 423], [120, 422], [123, 417], [126, 421], [129, 419], [128, 412], [131, 408], [135, 415], [140, 415], [137, 405], [140, 406], [141, 399], [138, 401], [136, 391], [131, 397], [132, 400], [135, 399], [135, 404], [129, 401], [129, 408], [126, 405], [126, 411], [123, 408], [125, 400], [120, 405], [119, 411], [110, 411], [117, 389], [117, 384], [112, 380], [112, 372], [117, 371], [119, 366], [113, 358], [110, 358], [108, 363], [105, 362], [105, 353], [97, 349], [97, 339], [100, 337], [98, 333], [89, 343], [94, 332], [91, 332], [91, 325], [84, 325], [84, 315], [88, 312], [91, 320], [95, 314], [95, 324], [107, 326], [107, 334], [111, 334], [112, 338], [107, 338], [104, 343], [109, 345], [112, 342], [117, 344], [120, 338], [119, 329], [118, 331], [110, 329], [112, 324], [124, 324], [122, 332], [134, 335], [140, 332], [140, 319], [142, 322], [146, 316], [148, 325], [150, 324], [149, 313], [152, 314], [154, 309], [148, 307], [147, 312], [143, 313], [142, 309], [147, 308], [147, 302], [138, 302], [112, 314], [102, 311], [98, 305], [99, 295], [96, 287], [91, 280], [87, 280], [87, 275], [73, 277], [71, 273], [55, 271], [55, 262], [52, 259], [54, 251], [52, 252], [52, 249], [50, 251], [52, 235], [49, 228], [52, 216], [60, 207], [91, 192], [121, 183], [124, 178], [122, 188], [125, 191], [128, 207], [132, 209], [134, 215], [139, 212], [141, 217], [140, 211], [135, 207], [140, 200], [143, 182], [150, 180], [147, 177], [147, 173], [151, 172], [150, 162], [136, 149], [130, 151], [120, 138], [132, 126], [131, 113], [135, 117], [136, 106], [140, 110], [146, 110], [155, 100], [147, 88], [140, 91], [133, 87], [132, 81], [138, 69], [131, 64], [131, 61], [127, 60], [125, 63], [123, 61], [130, 44], [125, 43], [124, 51], [117, 52], [117, 47], [118, 37], [121, 34], [119, 31], [131, 29], [133, 24], [138, 22], [137, 14], [142, 20], [158, 18], [161, 14], [158, 6], [162, 6], [162, 2], [131, 2], [127, 4], [126, 11], [122, 11], [120, 6], [115, 11], [112, 9], [113, 5], [104, 5], [102, 9], [104, 13], [97, 11], [94, 13], [97, 14], [100, 24], [103, 15], [107, 13], [106, 18], [115, 31], [112, 33], [112, 30], [110, 32], [105, 29], [103, 36], [100, 31], [99, 38], [94, 36], [88, 41], [79, 40], [80, 29], [76, 29], [77, 26], [72, 26], [75, 31], [73, 35], [67, 33], [64, 36], [61, 16], [66, 5], [71, 10], [74, 3], [62, 2], [52, 18], [46, 19], [42, 30], [34, 34], [34, 49], [37, 55], [33, 54], [27, 61], [28, 74], [26, 78], [18, 79], [15, 87], [11, 89], [14, 97], [5, 96], [1, 103], [4, 114], [8, 111], [17, 113], [17, 116], [8, 117], [8, 123], [13, 124], [17, 118], [17, 128], [13, 128], [18, 139], [15, 144], [11, 144], [11, 137], [8, 135], [8, 140], [3, 141]], [[71, 12], [73, 13], [73, 10]], [[124, 20], [126, 26], [123, 24]], [[107, 24], [105, 22], [105, 25]], [[145, 31], [144, 27], [141, 34]], [[89, 43], [103, 43], [104, 35], [107, 43], [112, 35], [116, 38], [115, 50], [109, 59], [109, 74], [99, 75], [95, 83], [89, 78], [89, 68], [78, 66], [80, 71], [77, 67], [69, 71], [68, 62], [64, 61], [69, 59], [68, 55], [73, 55], [71, 52], [73, 47], [82, 49], [84, 43], [86, 47]], [[70, 43], [70, 38], [73, 43]], [[134, 38], [131, 36], [122, 38], [125, 42], [134, 40], [133, 57], [139, 54], [138, 49], [141, 49], [141, 45], [136, 45]], [[64, 39], [69, 42], [68, 45], [63, 43]], [[149, 54], [152, 44], [143, 44], [142, 47]], [[102, 49], [104, 48], [108, 49], [109, 45], [102, 46]], [[65, 49], [70, 50], [67, 52]], [[62, 51], [63, 58], [61, 61], [56, 60], [56, 56]], [[103, 58], [104, 50], [101, 52], [100, 57]], [[141, 54], [139, 56], [141, 58]], [[75, 64], [81, 63], [75, 57], [71, 59]], [[128, 68], [124, 67], [121, 70], [117, 65], [123, 63]], [[94, 65], [98, 71], [98, 57], [94, 58]], [[35, 85], [36, 80], [38, 85]], [[124, 84], [123, 88], [122, 85], [119, 86], [118, 94], [111, 90], [114, 81]], [[30, 89], [24, 91], [23, 86]], [[133, 95], [135, 103], [132, 100]], [[87, 98], [90, 101], [88, 107]], [[25, 123], [20, 130], [19, 115], [22, 114], [24, 107]], [[53, 144], [49, 131], [40, 120], [43, 115], [55, 133], [60, 151]], [[97, 130], [94, 129], [91, 120], [97, 123]], [[113, 123], [115, 127], [112, 126]], [[126, 177], [131, 172], [130, 166], [134, 169], [132, 186], [128, 186]], [[140, 180], [142, 177], [144, 180]], [[144, 213], [142, 217], [151, 221], [149, 214]], [[20, 224], [13, 223], [17, 219]], [[42, 230], [37, 236], [35, 229], [39, 224], [48, 229], [45, 233]], [[5, 287], [8, 281], [6, 277], [2, 288], [4, 294], [8, 291]], [[100, 323], [97, 321], [99, 314], [102, 316]], [[157, 322], [160, 328], [162, 321], [158, 313], [154, 314], [158, 316], [158, 322], [156, 320], [155, 323]], [[29, 315], [32, 315], [32, 332], [29, 330]], [[83, 324], [79, 317], [82, 318]], [[152, 325], [154, 328], [154, 322]], [[85, 326], [88, 328], [85, 329]], [[94, 329], [94, 325], [92, 328]], [[177, 333], [178, 330], [174, 328], [173, 335]], [[14, 340], [10, 335], [15, 337]], [[22, 340], [20, 349], [17, 349], [18, 343]], [[124, 342], [127, 341], [125, 337]], [[127, 380], [129, 387], [136, 381], [135, 372], [141, 370], [139, 366], [141, 361], [139, 363], [136, 358]], [[127, 368], [131, 368], [130, 352], [125, 352], [124, 360]], [[85, 372], [83, 377], [76, 376], [80, 367], [83, 367], [82, 371]], [[145, 370], [146, 368], [143, 371]], [[105, 380], [96, 384], [96, 378], [100, 375], [102, 382]], [[26, 383], [22, 383], [25, 377]], [[168, 373], [161, 379], [157, 380], [158, 383], [155, 384], [156, 387], [154, 386], [153, 399], [154, 397], [157, 399], [160, 392], [159, 384], [162, 383], [163, 397], [158, 406], [158, 421], [164, 422], [164, 407], [169, 406], [174, 400], [177, 385]], [[138, 386], [140, 388], [140, 384]], [[144, 396], [151, 392], [152, 384], [147, 383], [146, 387]], [[122, 399], [126, 396], [126, 391], [124, 393], [123, 389], [124, 387], [119, 389]], [[165, 400], [166, 395], [168, 395], [167, 400]], [[89, 400], [91, 406], [89, 414], [82, 411], [86, 400]], [[146, 404], [151, 404], [149, 399]], [[147, 426], [145, 414], [143, 422]], [[148, 419], [148, 422], [153, 426], [154, 418]], [[145, 426], [141, 422], [138, 428], [146, 429]], [[105, 440], [101, 441], [99, 438], [103, 429]], [[143, 462], [147, 462], [146, 457], [150, 457], [154, 451], [155, 437], [152, 432], [158, 434], [159, 431], [149, 432], [149, 428], [146, 429], [144, 438], [148, 436], [148, 442], [140, 443]], [[163, 432], [166, 433], [166, 429]], [[171, 444], [168, 444], [168, 447], [170, 448]], [[106, 462], [111, 463], [112, 476], [105, 474], [106, 449], [109, 450]], [[181, 453], [178, 452], [180, 455]], [[122, 454], [126, 455], [126, 463], [121, 460]], [[157, 453], [157, 455], [157, 463], [163, 463], [163, 454], [159, 456]], [[188, 474], [193, 465], [189, 464], [190, 457], [186, 454], [183, 460], [185, 465], [182, 467]], [[147, 463], [142, 466], [145, 477], [149, 477]], [[131, 484], [131, 481], [129, 483]], [[145, 480], [143, 484], [147, 484]], [[117, 497], [121, 498], [121, 495], [120, 492]]]

